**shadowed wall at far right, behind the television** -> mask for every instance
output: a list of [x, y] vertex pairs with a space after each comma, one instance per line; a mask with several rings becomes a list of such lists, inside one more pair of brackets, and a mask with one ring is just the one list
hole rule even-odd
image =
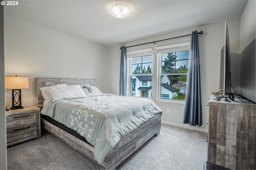
[[256, 3], [249, 0], [241, 16], [240, 24], [240, 84], [239, 94], [256, 102]]

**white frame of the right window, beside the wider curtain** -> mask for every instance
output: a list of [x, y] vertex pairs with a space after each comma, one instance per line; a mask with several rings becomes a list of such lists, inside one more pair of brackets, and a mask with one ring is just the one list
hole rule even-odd
[[[161, 95], [165, 95], [165, 94], [161, 94], [161, 87], [162, 87], [161, 77], [162, 77], [162, 75], [188, 75], [188, 73], [162, 73], [162, 53], [188, 51], [188, 50], [190, 51], [190, 42], [156, 47], [156, 50], [157, 50], [157, 57], [158, 57], [158, 79], [157, 79], [157, 81], [158, 81], [157, 82], [157, 85], [158, 85], [157, 93], [158, 93], [158, 95], [157, 95], [157, 100], [158, 101], [175, 102], [175, 103], [185, 103], [185, 100], [162, 99], [161, 98]], [[188, 63], [189, 63], [189, 59], [188, 59]]]

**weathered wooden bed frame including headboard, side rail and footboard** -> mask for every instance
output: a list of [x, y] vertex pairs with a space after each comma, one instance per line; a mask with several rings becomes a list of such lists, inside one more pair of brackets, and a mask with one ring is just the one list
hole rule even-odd
[[[48, 87], [52, 85], [66, 83], [68, 85], [81, 85], [90, 84], [95, 86], [95, 79], [66, 79], [66, 78], [36, 78], [36, 104], [37, 107], [42, 109], [44, 98], [42, 97], [39, 88]], [[48, 132], [54, 134], [66, 144], [70, 145], [72, 148], [78, 150], [86, 157], [90, 158], [96, 164], [100, 166], [101, 169], [116, 169], [121, 162], [123, 162], [128, 156], [135, 152], [140, 146], [147, 142], [152, 136], [158, 136], [160, 134], [161, 128], [161, 115], [162, 113], [156, 114], [151, 117], [148, 121], [143, 123], [140, 127], [130, 132], [123, 138], [119, 140], [116, 146], [110, 151], [106, 156], [102, 164], [94, 158], [94, 147], [87, 142], [77, 138], [76, 136], [62, 130], [61, 128], [49, 123], [48, 121], [41, 118], [41, 127], [46, 129]]]

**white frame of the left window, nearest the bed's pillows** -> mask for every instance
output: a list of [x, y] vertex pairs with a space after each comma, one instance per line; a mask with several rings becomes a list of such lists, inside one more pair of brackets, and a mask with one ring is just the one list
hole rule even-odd
[[[152, 76], [152, 73], [150, 74], [132, 74], [132, 58], [134, 57], [142, 57], [142, 56], [146, 56], [146, 55], [140, 55], [140, 54], [144, 54], [144, 53], [149, 53], [149, 55], [152, 55], [152, 65], [153, 65], [153, 50], [152, 48], [148, 48], [148, 49], [141, 49], [141, 50], [136, 50], [136, 51], [129, 51], [126, 53], [126, 57], [127, 57], [127, 87], [126, 87], [126, 94], [128, 94], [127, 96], [132, 96], [132, 81], [131, 78], [132, 76], [143, 76], [143, 75], [150, 75]], [[153, 69], [152, 69], [153, 72]], [[147, 82], [148, 84], [148, 82]], [[141, 92], [140, 92], [141, 93]], [[132, 96], [132, 97], [143, 97], [143, 96]], [[152, 99], [152, 93], [151, 93], [151, 97], [146, 97], [147, 99]]]

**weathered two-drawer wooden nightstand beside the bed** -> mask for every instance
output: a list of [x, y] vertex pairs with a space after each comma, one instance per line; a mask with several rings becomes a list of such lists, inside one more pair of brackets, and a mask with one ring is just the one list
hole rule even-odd
[[41, 138], [40, 108], [24, 107], [6, 111], [7, 146]]

